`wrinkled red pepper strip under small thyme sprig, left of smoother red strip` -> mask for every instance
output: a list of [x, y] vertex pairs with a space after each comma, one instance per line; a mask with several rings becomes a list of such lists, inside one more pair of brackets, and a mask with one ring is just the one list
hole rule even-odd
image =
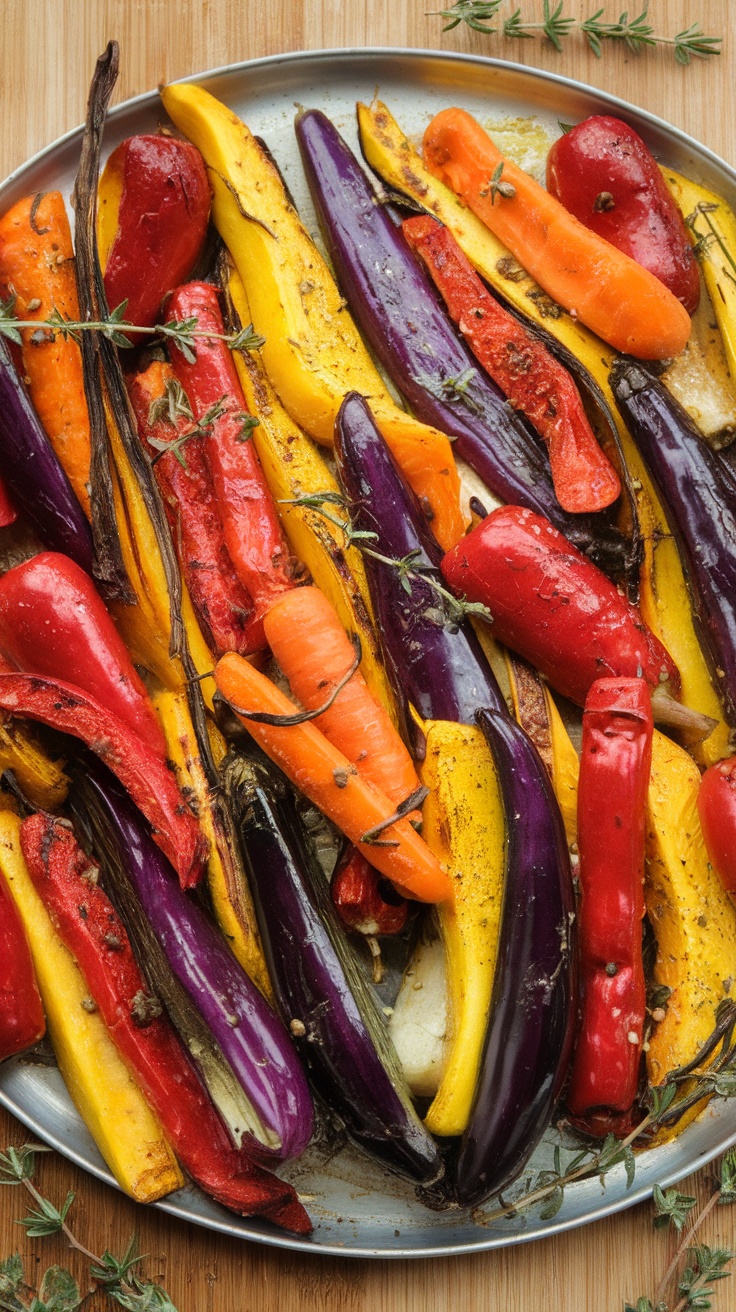
[[[248, 656], [258, 647], [251, 618], [253, 602], [232, 568], [224, 543], [205, 437], [202, 433], [186, 436], [194, 424], [185, 415], [178, 415], [173, 422], [167, 419], [165, 403], [172, 395], [172, 384], [177, 384], [173, 369], [161, 361], [150, 365], [144, 374], [129, 378], [138, 433], [155, 461], [153, 472], [178, 562], [205, 638], [216, 656], [224, 652]], [[157, 419], [151, 409], [156, 401], [164, 401], [164, 412]], [[178, 455], [163, 450], [160, 443], [182, 437]]]

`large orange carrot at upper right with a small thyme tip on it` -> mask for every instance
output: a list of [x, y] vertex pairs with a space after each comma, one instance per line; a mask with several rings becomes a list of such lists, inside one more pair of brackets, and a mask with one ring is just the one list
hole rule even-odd
[[466, 110], [436, 114], [424, 157], [544, 291], [615, 350], [642, 359], [684, 350], [690, 316], [672, 291], [505, 159]]

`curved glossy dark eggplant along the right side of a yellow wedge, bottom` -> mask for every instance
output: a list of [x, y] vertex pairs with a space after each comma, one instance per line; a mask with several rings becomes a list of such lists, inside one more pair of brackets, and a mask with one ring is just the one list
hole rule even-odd
[[572, 874], [552, 786], [518, 724], [489, 710], [476, 719], [499, 771], [508, 850], [491, 1019], [455, 1168], [463, 1207], [505, 1189], [539, 1143], [575, 1021]]

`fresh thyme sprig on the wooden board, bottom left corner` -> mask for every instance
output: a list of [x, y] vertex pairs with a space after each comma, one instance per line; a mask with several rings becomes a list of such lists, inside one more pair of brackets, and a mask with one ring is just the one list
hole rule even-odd
[[[35, 1155], [50, 1152], [42, 1144], [22, 1144], [20, 1148], [7, 1148], [0, 1153], [0, 1185], [22, 1185], [33, 1198], [35, 1207], [17, 1224], [22, 1225], [31, 1239], [45, 1239], [49, 1235], [63, 1235], [70, 1248], [81, 1253], [89, 1262], [89, 1275], [112, 1303], [127, 1312], [176, 1312], [176, 1307], [160, 1284], [142, 1279], [135, 1267], [143, 1261], [136, 1253], [135, 1239], [122, 1258], [108, 1249], [98, 1257], [81, 1244], [67, 1225], [67, 1216], [75, 1195], [67, 1194], [62, 1207], [56, 1207], [38, 1191], [33, 1183]], [[70, 1271], [62, 1266], [50, 1266], [41, 1279], [38, 1291], [25, 1281], [24, 1265], [18, 1253], [0, 1261], [0, 1308], [8, 1312], [76, 1312], [85, 1299]]]

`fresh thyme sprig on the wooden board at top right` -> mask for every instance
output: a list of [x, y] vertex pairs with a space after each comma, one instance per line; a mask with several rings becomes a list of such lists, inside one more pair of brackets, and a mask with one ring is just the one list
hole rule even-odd
[[558, 51], [562, 51], [563, 41], [567, 37], [580, 33], [586, 38], [590, 50], [598, 59], [603, 52], [605, 41], [623, 42], [636, 55], [653, 46], [670, 47], [678, 64], [689, 64], [694, 58], [706, 59], [708, 55], [719, 55], [723, 43], [722, 37], [706, 35], [697, 22], [684, 28], [674, 37], [660, 35], [647, 21], [648, 5], [635, 16], [628, 17], [628, 10], [624, 10], [619, 14], [618, 21], [607, 21], [603, 8], [597, 9], [588, 18], [576, 18], [564, 13], [564, 0], [554, 7], [551, 0], [543, 0], [542, 22], [526, 20], [522, 10], [517, 8], [502, 20], [500, 26], [492, 26], [504, 4], [505, 0], [457, 0], [451, 9], [433, 9], [428, 17], [445, 18], [443, 31], [451, 31], [460, 22], [464, 22], [474, 31], [481, 31], [487, 37], [501, 33], [510, 39], [526, 41], [539, 33]]

